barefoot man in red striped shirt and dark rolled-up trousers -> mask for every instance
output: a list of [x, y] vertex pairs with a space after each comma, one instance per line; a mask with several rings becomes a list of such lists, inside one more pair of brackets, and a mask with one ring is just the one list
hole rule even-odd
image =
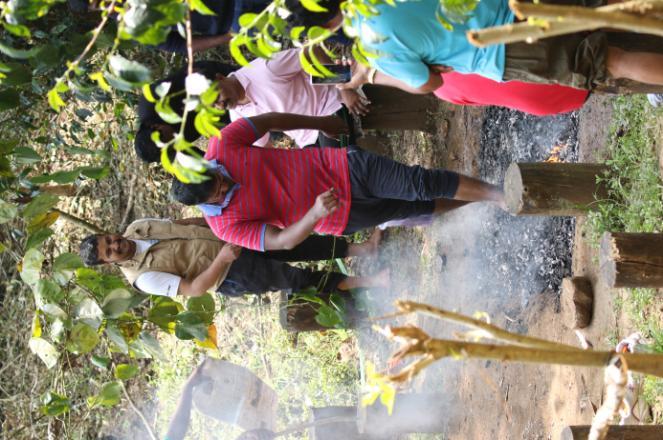
[[337, 116], [265, 113], [210, 140], [208, 180], [174, 179], [171, 195], [202, 205], [222, 240], [255, 250], [291, 249], [312, 232], [351, 234], [389, 220], [439, 214], [469, 202], [503, 202], [502, 191], [443, 169], [407, 166], [357, 147], [257, 148], [269, 130], [347, 131]]

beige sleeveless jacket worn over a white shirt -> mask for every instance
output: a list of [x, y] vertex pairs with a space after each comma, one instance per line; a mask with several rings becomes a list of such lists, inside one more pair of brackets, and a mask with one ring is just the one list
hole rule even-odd
[[[124, 237], [159, 240], [147, 252], [119, 263], [132, 286], [140, 274], [151, 271], [195, 278], [212, 264], [225, 244], [206, 226], [178, 225], [164, 220], [136, 220], [129, 225]], [[223, 282], [231, 264], [226, 264], [213, 289]]]

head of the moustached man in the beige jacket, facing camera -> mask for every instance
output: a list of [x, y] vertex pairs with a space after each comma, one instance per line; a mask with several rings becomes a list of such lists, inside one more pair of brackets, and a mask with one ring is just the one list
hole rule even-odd
[[81, 241], [78, 251], [86, 266], [121, 263], [136, 253], [136, 243], [120, 234], [89, 235]]

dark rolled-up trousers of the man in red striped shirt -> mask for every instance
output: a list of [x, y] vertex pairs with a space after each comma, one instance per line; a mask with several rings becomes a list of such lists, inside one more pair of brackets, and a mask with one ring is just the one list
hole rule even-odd
[[348, 148], [350, 217], [344, 234], [391, 220], [430, 215], [435, 199], [451, 199], [458, 174], [408, 166], [359, 147]]

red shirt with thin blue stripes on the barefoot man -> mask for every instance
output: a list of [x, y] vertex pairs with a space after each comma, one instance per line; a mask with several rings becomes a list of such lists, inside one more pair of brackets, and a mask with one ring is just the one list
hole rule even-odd
[[350, 214], [350, 176], [344, 148], [253, 147], [256, 130], [238, 119], [209, 141], [205, 159], [216, 159], [240, 187], [219, 216], [205, 216], [220, 239], [264, 251], [265, 227], [285, 228], [336, 188], [339, 207], [315, 226], [321, 234], [342, 235]]

